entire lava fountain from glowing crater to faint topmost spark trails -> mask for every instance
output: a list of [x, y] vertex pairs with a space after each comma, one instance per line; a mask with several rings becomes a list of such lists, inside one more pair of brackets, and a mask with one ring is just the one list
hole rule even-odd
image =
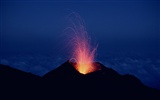
[[72, 27], [68, 29], [74, 33], [70, 41], [73, 46], [73, 54], [70, 61], [75, 62], [74, 67], [81, 74], [94, 72], [98, 70], [93, 63], [97, 46], [94, 48], [91, 47], [90, 38], [80, 15], [72, 13], [70, 16]]

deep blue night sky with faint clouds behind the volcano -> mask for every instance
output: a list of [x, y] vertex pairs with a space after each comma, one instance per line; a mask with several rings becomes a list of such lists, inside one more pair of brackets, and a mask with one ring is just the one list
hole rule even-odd
[[77, 12], [96, 61], [160, 89], [159, 0], [1, 0], [0, 63], [44, 75], [70, 58], [68, 15]]

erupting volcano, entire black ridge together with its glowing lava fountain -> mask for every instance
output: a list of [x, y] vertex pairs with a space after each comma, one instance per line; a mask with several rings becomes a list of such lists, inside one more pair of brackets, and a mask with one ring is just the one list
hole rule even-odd
[[4, 99], [160, 100], [159, 90], [145, 86], [133, 75], [121, 75], [95, 62], [97, 46], [91, 46], [84, 21], [77, 13], [69, 18], [72, 26], [67, 32], [74, 35], [69, 41], [73, 47], [70, 60], [42, 77], [0, 64], [0, 92]]

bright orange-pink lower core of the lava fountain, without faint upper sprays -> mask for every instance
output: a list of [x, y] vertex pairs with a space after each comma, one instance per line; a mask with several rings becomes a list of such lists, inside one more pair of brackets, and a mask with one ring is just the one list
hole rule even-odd
[[93, 65], [95, 50], [90, 50], [90, 44], [86, 40], [86, 38], [77, 38], [75, 46], [75, 60], [76, 66], [75, 68], [81, 74], [87, 74], [95, 71], [95, 67]]

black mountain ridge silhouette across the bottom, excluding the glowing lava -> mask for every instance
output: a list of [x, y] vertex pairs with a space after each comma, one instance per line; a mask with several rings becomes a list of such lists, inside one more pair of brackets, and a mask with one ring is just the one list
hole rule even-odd
[[28, 99], [160, 100], [159, 90], [143, 85], [136, 77], [120, 75], [98, 62], [94, 65], [99, 70], [83, 75], [67, 61], [43, 77], [0, 65], [0, 81], [4, 83], [0, 86], [5, 87], [2, 92], [11, 90], [10, 95], [21, 94]]

